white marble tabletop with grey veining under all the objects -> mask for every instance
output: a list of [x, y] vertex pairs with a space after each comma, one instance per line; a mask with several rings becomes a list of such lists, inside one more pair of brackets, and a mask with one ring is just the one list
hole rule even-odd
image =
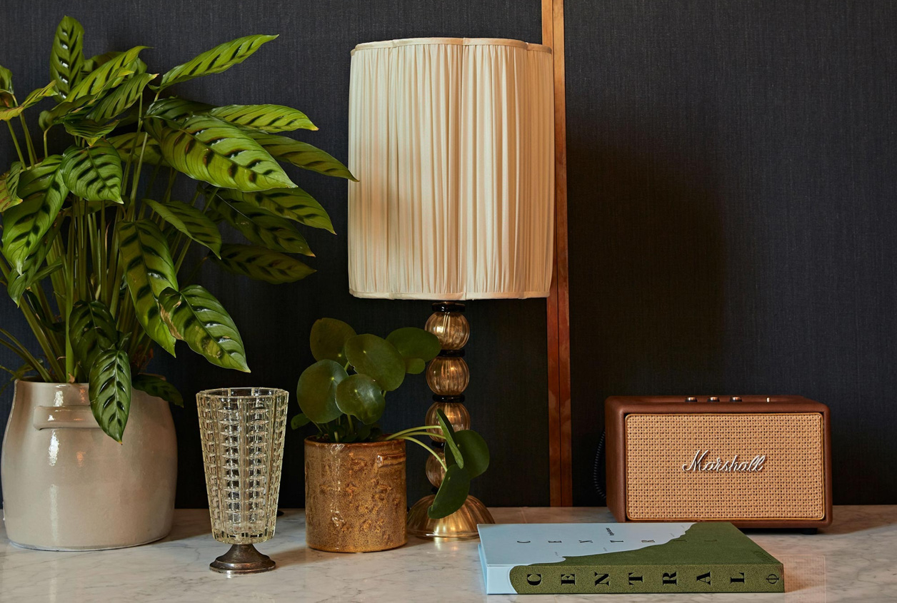
[[[614, 521], [605, 508], [492, 509], [500, 522]], [[613, 595], [614, 603], [648, 601], [897, 601], [897, 505], [840, 506], [832, 527], [810, 536], [749, 533], [785, 564], [785, 594]], [[227, 546], [213, 540], [205, 510], [176, 512], [159, 542], [114, 551], [48, 553], [13, 547], [0, 525], [0, 601], [81, 603], [167, 601], [588, 601], [602, 595], [483, 594], [476, 541], [411, 538], [405, 547], [346, 555], [305, 547], [301, 510], [277, 521], [277, 534], [258, 546], [277, 562], [273, 572], [228, 578], [208, 565]]]

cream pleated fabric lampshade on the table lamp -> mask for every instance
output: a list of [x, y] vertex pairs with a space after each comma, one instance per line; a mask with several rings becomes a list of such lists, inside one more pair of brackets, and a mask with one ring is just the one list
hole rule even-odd
[[353, 50], [349, 288], [356, 297], [547, 297], [551, 49], [399, 39]]

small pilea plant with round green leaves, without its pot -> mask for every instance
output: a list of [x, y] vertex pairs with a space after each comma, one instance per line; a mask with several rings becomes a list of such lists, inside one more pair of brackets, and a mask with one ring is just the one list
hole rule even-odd
[[[396, 329], [386, 339], [356, 334], [347, 323], [322, 318], [311, 327], [311, 354], [317, 360], [299, 378], [296, 399], [301, 413], [292, 418], [297, 429], [309, 422], [318, 427], [321, 441], [349, 444], [405, 440], [422, 446], [445, 471], [427, 514], [433, 519], [455, 513], [470, 491], [470, 480], [489, 466], [489, 447], [471, 429], [455, 431], [437, 410], [438, 425], [410, 427], [384, 434], [378, 421], [386, 410], [386, 396], [419, 374], [440, 353], [440, 340], [414, 327]], [[422, 438], [443, 443], [442, 454]]]

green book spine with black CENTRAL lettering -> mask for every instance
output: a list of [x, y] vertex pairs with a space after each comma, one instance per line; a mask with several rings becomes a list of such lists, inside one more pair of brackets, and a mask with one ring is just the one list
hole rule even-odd
[[785, 591], [781, 564], [536, 564], [509, 578], [520, 594]]

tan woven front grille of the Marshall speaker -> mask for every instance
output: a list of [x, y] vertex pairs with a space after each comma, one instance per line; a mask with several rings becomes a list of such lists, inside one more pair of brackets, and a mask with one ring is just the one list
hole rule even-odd
[[[699, 451], [711, 469], [684, 470]], [[736, 454], [743, 470], [712, 469]], [[740, 465], [758, 455], [761, 470]], [[632, 520], [822, 519], [823, 478], [819, 413], [626, 416]]]

